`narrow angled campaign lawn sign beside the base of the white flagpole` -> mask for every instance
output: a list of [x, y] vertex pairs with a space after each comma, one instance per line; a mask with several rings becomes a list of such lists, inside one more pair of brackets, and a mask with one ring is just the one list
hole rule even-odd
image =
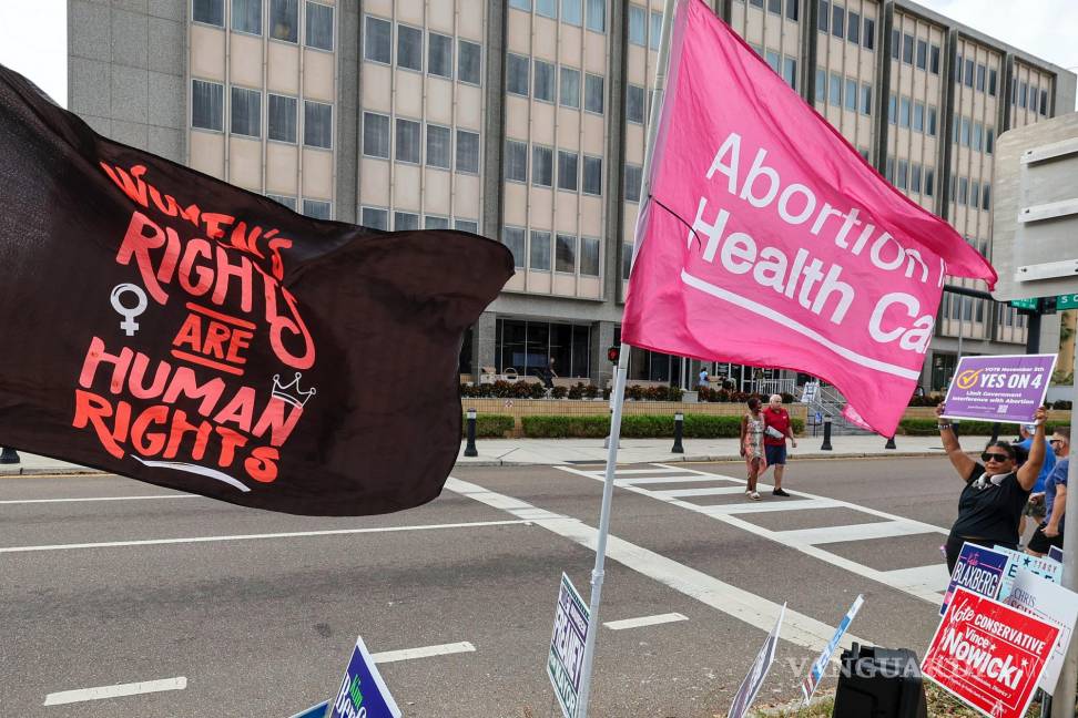
[[566, 718], [576, 718], [577, 715], [587, 638], [588, 604], [577, 593], [569, 576], [562, 573], [550, 653], [547, 655], [547, 676]]

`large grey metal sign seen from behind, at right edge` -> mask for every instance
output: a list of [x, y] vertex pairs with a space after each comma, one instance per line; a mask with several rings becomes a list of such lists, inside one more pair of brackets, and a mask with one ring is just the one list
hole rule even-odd
[[994, 157], [993, 297], [1078, 293], [1078, 113], [1003, 133]]

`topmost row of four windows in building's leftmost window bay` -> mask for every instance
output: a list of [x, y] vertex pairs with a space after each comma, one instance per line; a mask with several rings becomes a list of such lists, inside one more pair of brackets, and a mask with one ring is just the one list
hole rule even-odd
[[[192, 0], [191, 18], [195, 22], [224, 27], [225, 0]], [[299, 42], [299, 0], [231, 0], [232, 30], [247, 34], [262, 34], [266, 27], [270, 38], [283, 42]], [[304, 44], [308, 48], [333, 51], [333, 7], [319, 2], [305, 3], [306, 22]]]

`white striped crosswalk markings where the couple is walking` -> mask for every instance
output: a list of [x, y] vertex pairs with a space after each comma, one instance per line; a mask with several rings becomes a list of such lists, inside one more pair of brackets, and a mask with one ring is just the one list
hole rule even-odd
[[[679, 466], [671, 466], [669, 464], [655, 464], [655, 465], [661, 466], [663, 469], [679, 468]], [[602, 471], [584, 471], [581, 469], [577, 469], [574, 466], [557, 466], [557, 468], [562, 471], [567, 471], [569, 473], [574, 473], [580, 476], [587, 476], [588, 479], [593, 479], [596, 481], [603, 480]], [[695, 469], [688, 469], [688, 468], [680, 468], [680, 469], [683, 472], [682, 476], [668, 478], [664, 479], [663, 481], [669, 483], [674, 483], [678, 481], [714, 481], [714, 480], [734, 481], [738, 483], [742, 483], [744, 481], [742, 479], [734, 479], [733, 476], [708, 473], [706, 471], [698, 471]], [[796, 532], [771, 531], [769, 529], [764, 529], [763, 526], [757, 526], [749, 521], [744, 521], [743, 519], [739, 519], [736, 514], [761, 513], [761, 512], [770, 512], [770, 511], [799, 511], [799, 510], [810, 510], [810, 509], [844, 507], [844, 509], [853, 509], [854, 511], [860, 511], [871, 516], [878, 516], [881, 519], [886, 519], [887, 521], [891, 522], [901, 522], [904, 525], [908, 526], [911, 531], [913, 531], [913, 533], [926, 533], [926, 534], [938, 533], [938, 534], [947, 535], [948, 532], [945, 529], [940, 529], [939, 526], [935, 526], [929, 523], [923, 523], [921, 521], [915, 521], [913, 519], [907, 519], [905, 516], [897, 516], [894, 514], [886, 513], [884, 511], [877, 511], [875, 509], [869, 509], [868, 506], [862, 506], [858, 504], [850, 503], [848, 501], [840, 501], [837, 499], [817, 496], [815, 494], [805, 493], [803, 491], [790, 492], [794, 496], [802, 499], [800, 501], [789, 501], [784, 499], [781, 500], [781, 499], [769, 498], [766, 501], [763, 502], [752, 502], [752, 503], [745, 502], [745, 503], [719, 504], [719, 505], [709, 506], [709, 505], [695, 504], [689, 501], [682, 501], [681, 499], [672, 498], [669, 495], [663, 495], [667, 492], [650, 491], [643, 486], [621, 485], [621, 488], [624, 489], [626, 491], [631, 491], [632, 493], [638, 493], [645, 496], [651, 496], [659, 501], [664, 501], [671, 505], [679, 506], [681, 509], [687, 509], [689, 511], [702, 513], [704, 515], [711, 516], [716, 521], [721, 521], [731, 526], [736, 526], [738, 529], [748, 531], [756, 536], [760, 536], [761, 538], [767, 538], [774, 541], [776, 543], [800, 551], [803, 554], [812, 556], [813, 558], [817, 558], [825, 563], [830, 563], [833, 566], [837, 566], [838, 568], [842, 568], [844, 571], [848, 571], [858, 576], [863, 576], [871, 581], [881, 583], [885, 586], [891, 586], [892, 588], [896, 588], [912, 596], [916, 596], [917, 598], [926, 601], [933, 605], [939, 604], [939, 593], [936, 588], [934, 588], [935, 586], [934, 583], [911, 581], [908, 576], [905, 574], [896, 574], [895, 572], [889, 572], [889, 571], [877, 571], [876, 568], [865, 566], [864, 564], [860, 564], [855, 561], [851, 561], [850, 558], [846, 558], [844, 556], [833, 554], [828, 551], [824, 551], [823, 548], [817, 548], [812, 544], [804, 543], [797, 540], [796, 536], [792, 537], [791, 534], [795, 534]], [[760, 490], [761, 493], [765, 493], [766, 491], [771, 490], [771, 488], [772, 488], [771, 484], [764, 484], [764, 483], [757, 484], [757, 489]], [[834, 530], [841, 530], [841, 529], [844, 527], [843, 526], [834, 527]]]

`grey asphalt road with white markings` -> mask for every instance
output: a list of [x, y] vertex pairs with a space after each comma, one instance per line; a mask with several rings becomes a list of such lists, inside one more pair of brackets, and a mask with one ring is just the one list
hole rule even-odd
[[[588, 597], [599, 469], [461, 469], [437, 501], [364, 519], [0, 480], [0, 716], [286, 718], [330, 697], [356, 634], [450, 646], [380, 666], [405, 716], [558, 716], [546, 655], [561, 572]], [[923, 654], [960, 486], [944, 458], [801, 461], [785, 486], [808, 495], [759, 504], [716, 478], [743, 465], [623, 469], [600, 619], [684, 619], [599, 629], [591, 716], [724, 711], [783, 603], [760, 701], [799, 695], [858, 593], [854, 636]], [[173, 689], [45, 705], [140, 681]]]

